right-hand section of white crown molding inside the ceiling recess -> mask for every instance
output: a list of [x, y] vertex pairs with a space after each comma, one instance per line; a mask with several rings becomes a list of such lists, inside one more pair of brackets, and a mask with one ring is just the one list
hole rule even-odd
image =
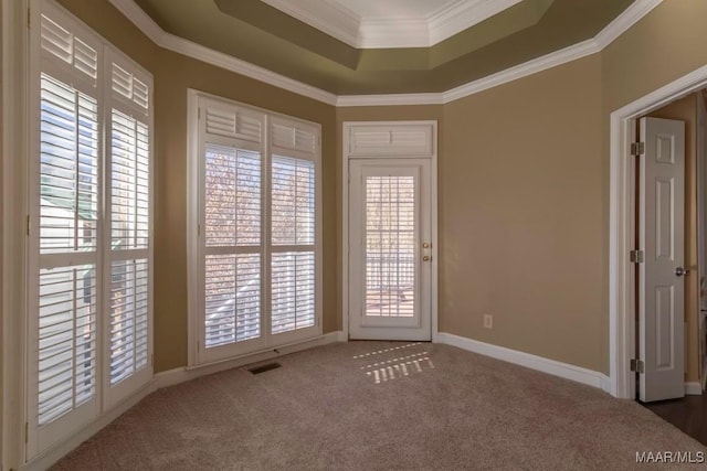
[[430, 46], [509, 9], [521, 0], [473, 0], [455, 2], [430, 17]]

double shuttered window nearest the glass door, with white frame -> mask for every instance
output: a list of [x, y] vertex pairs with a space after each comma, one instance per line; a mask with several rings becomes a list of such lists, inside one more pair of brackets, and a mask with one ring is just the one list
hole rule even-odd
[[319, 126], [191, 93], [192, 363], [315, 338]]

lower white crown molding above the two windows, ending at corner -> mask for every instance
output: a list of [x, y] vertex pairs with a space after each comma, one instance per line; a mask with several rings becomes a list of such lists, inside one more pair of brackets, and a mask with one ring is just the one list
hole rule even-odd
[[295, 81], [275, 72], [268, 71], [250, 62], [242, 61], [202, 46], [194, 42], [176, 36], [162, 30], [134, 0], [109, 0], [110, 3], [130, 20], [143, 33], [145, 33], [155, 44], [166, 50], [183, 54], [186, 56], [205, 62], [211, 65], [254, 78], [258, 82], [295, 93], [328, 105], [336, 105], [336, 95], [314, 87], [312, 85]]

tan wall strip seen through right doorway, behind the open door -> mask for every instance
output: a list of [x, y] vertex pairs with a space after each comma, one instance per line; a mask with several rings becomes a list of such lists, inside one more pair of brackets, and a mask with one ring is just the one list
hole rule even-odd
[[685, 121], [685, 379], [698, 382], [699, 372], [699, 279], [697, 253], [697, 94], [692, 94], [651, 113], [651, 117]]

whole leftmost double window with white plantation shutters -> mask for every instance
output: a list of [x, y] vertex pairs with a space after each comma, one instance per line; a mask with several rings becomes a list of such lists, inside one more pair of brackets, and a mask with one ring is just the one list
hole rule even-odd
[[41, 2], [29, 188], [29, 457], [151, 378], [151, 76]]

